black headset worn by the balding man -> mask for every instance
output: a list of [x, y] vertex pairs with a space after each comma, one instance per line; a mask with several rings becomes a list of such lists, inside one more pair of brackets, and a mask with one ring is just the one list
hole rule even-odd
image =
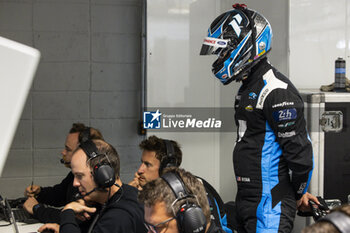
[[114, 169], [109, 162], [106, 154], [99, 154], [95, 143], [91, 140], [82, 142], [79, 147], [85, 152], [86, 156], [91, 159], [95, 159], [98, 156], [106, 156], [108, 162], [98, 163], [92, 168], [92, 175], [98, 188], [104, 189], [111, 187], [115, 183]]

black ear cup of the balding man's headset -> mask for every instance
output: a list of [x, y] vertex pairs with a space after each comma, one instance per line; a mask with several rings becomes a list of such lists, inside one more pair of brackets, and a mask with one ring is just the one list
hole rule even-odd
[[99, 188], [108, 188], [115, 183], [114, 169], [109, 164], [94, 167], [94, 180]]

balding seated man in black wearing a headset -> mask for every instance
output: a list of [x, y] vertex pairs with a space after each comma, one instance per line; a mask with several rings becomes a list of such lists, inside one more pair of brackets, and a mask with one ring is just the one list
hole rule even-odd
[[[74, 187], [81, 199], [65, 205], [61, 212], [59, 232], [75, 233], [81, 229], [76, 221], [90, 219], [89, 232], [145, 233], [143, 209], [137, 201], [138, 190], [120, 179], [120, 161], [115, 148], [102, 140], [84, 142], [71, 160]], [[44, 225], [57, 230], [58, 225]]]

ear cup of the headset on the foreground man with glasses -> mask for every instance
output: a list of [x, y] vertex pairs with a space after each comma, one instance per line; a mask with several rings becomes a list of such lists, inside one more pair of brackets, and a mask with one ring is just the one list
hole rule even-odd
[[184, 233], [204, 233], [207, 226], [202, 209], [194, 204], [181, 207], [176, 221], [179, 230]]

